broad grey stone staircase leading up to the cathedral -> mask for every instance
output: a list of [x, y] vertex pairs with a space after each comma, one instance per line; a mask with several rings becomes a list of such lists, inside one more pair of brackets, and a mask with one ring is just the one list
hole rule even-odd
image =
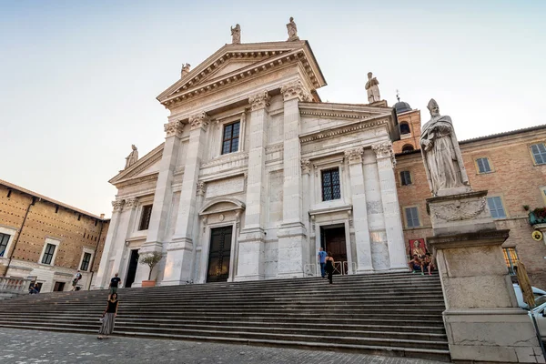
[[[410, 273], [118, 290], [116, 335], [450, 361], [440, 278]], [[0, 327], [96, 333], [106, 290], [2, 302]]]

